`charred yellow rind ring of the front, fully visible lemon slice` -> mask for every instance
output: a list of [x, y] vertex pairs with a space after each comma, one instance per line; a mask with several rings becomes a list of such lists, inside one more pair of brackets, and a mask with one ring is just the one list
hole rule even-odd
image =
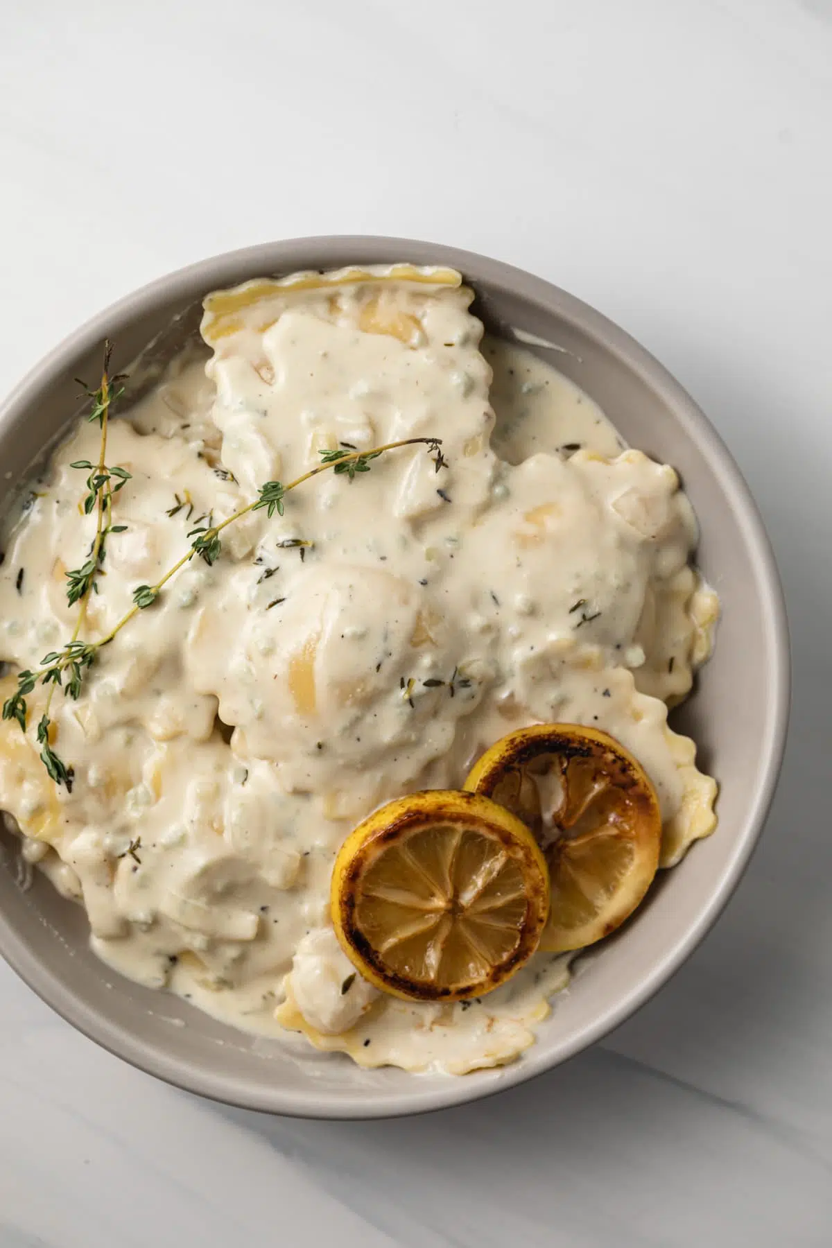
[[[516, 950], [510, 960], [493, 967], [488, 977], [462, 988], [432, 988], [392, 972], [356, 924], [358, 884], [377, 854], [403, 835], [437, 822], [467, 825], [473, 830], [485, 826], [521, 862], [526, 882], [526, 921]], [[404, 1001], [425, 1002], [464, 1001], [505, 983], [536, 951], [549, 919], [549, 867], [529, 827], [490, 797], [460, 789], [425, 789], [373, 811], [341, 846], [329, 895], [338, 942], [356, 970], [382, 992]]]

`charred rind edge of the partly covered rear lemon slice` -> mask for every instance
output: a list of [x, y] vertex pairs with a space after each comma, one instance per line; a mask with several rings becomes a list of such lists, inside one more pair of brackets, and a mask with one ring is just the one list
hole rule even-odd
[[[556, 915], [553, 911], [540, 938], [540, 948], [549, 953], [568, 953], [586, 948], [604, 940], [605, 936], [610, 936], [644, 901], [660, 866], [661, 810], [654, 784], [639, 760], [609, 733], [597, 728], [586, 728], [583, 724], [531, 724], [528, 728], [508, 733], [485, 750], [468, 774], [464, 787], [468, 791], [490, 796], [506, 768], [523, 768], [541, 754], [560, 754], [569, 759], [597, 758], [600, 763], [610, 768], [616, 786], [622, 787], [635, 802], [634, 840], [640, 846], [640, 856], [645, 862], [645, 876], [649, 872], [642, 889], [624, 887], [621, 890], [619, 906], [610, 906], [609, 915], [604, 922], [599, 921], [599, 930], [595, 934], [593, 925], [585, 924], [584, 927], [574, 930], [571, 938], [558, 940], [555, 934], [565, 932], [568, 929], [558, 926]], [[589, 935], [586, 935], [588, 932]]]

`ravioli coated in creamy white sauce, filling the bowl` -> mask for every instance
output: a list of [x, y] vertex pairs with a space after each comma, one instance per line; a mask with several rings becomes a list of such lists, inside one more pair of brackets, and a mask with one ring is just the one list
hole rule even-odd
[[[696, 524], [674, 470], [624, 449], [524, 348], [480, 352], [455, 275], [407, 277], [208, 297], [207, 368], [188, 352], [111, 424], [107, 462], [132, 473], [115, 505], [127, 529], [110, 538], [84, 635], [163, 575], [200, 515], [230, 515], [322, 449], [437, 436], [448, 467], [393, 451], [352, 483], [307, 483], [282, 517], [230, 527], [213, 567], [193, 560], [101, 650], [77, 703], [54, 698], [71, 794], [31, 729], [1, 725], [0, 806], [125, 975], [362, 1065], [463, 1072], [533, 1042], [563, 960], [539, 956], [465, 1006], [379, 998], [360, 981], [342, 993], [352, 968], [328, 927], [339, 844], [382, 801], [460, 785], [510, 729], [563, 720], [640, 759], [676, 861], [712, 829], [715, 786], [666, 703], [707, 655], [716, 600], [690, 567]], [[97, 453], [97, 426], [79, 423], [7, 527], [12, 669], [75, 626], [65, 573], [95, 519], [70, 464]], [[5, 698], [14, 675], [2, 684]]]

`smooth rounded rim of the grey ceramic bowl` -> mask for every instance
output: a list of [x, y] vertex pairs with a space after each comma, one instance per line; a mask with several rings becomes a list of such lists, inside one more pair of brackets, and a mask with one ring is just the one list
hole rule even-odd
[[760, 751], [763, 781], [750, 801], [743, 826], [736, 836], [733, 852], [695, 921], [679, 934], [649, 973], [616, 997], [569, 1043], [561, 1043], [560, 1050], [555, 1051], [533, 1046], [523, 1055], [521, 1062], [503, 1067], [499, 1078], [489, 1082], [449, 1077], [447, 1085], [439, 1088], [423, 1090], [419, 1087], [419, 1081], [413, 1080], [412, 1090], [395, 1090], [379, 1103], [362, 1096], [360, 1091], [336, 1103], [328, 1103], [326, 1093], [303, 1090], [278, 1092], [272, 1096], [244, 1092], [235, 1078], [217, 1080], [185, 1058], [171, 1057], [163, 1051], [151, 1048], [146, 1042], [115, 1025], [104, 1012], [84, 1003], [29, 947], [7, 916], [0, 911], [0, 953], [6, 962], [46, 1005], [116, 1057], [175, 1087], [225, 1104], [287, 1117], [324, 1119], [392, 1118], [427, 1113], [494, 1096], [509, 1087], [525, 1083], [583, 1052], [645, 1005], [700, 945], [740, 882], [760, 839], [773, 797], [786, 745], [791, 698], [788, 624], [775, 555], [757, 504], [721, 437], [691, 396], [635, 338], [574, 295], [503, 261], [442, 243], [379, 235], [322, 235], [221, 252], [148, 282], [104, 308], [64, 338], [26, 373], [0, 404], [0, 431], [30, 409], [37, 396], [50, 388], [75, 357], [91, 349], [105, 337], [115, 337], [123, 323], [151, 313], [160, 302], [181, 301], [185, 307], [188, 298], [195, 300], [208, 290], [244, 281], [241, 273], [257, 268], [264, 273], [273, 273], [292, 265], [297, 268], [293, 257], [298, 252], [314, 252], [319, 258], [319, 265], [316, 267], [327, 268], [333, 265], [342, 267], [343, 253], [352, 251], [356, 252], [354, 263], [390, 263], [393, 261], [389, 257], [393, 256], [405, 257], [419, 265], [447, 265], [462, 270], [463, 275], [474, 273], [474, 285], [478, 280], [493, 281], [543, 305], [556, 305], [560, 314], [581, 332], [597, 339], [631, 371], [647, 381], [662, 402], [672, 408], [684, 429], [689, 433], [695, 432], [696, 442], [702, 448], [721, 489], [732, 500], [737, 525], [742, 530], [751, 555], [755, 579], [761, 587], [767, 649], [773, 664], [767, 681], [767, 731]]

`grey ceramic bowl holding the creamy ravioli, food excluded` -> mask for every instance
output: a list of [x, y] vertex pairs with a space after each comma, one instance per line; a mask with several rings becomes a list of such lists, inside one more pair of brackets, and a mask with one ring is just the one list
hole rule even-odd
[[[220, 286], [264, 273], [409, 260], [452, 265], [490, 326], [558, 343], [553, 362], [596, 399], [627, 441], [684, 478], [701, 524], [699, 562], [722, 600], [715, 656], [677, 715], [720, 781], [720, 826], [667, 872], [619, 936], [586, 960], [536, 1045], [513, 1066], [462, 1078], [364, 1072], [346, 1058], [287, 1056], [175, 997], [109, 972], [89, 951], [82, 910], [36, 875], [16, 882], [0, 861], [0, 951], [64, 1018], [105, 1048], [180, 1087], [233, 1104], [321, 1118], [384, 1117], [486, 1096], [548, 1070], [604, 1036], [682, 963], [735, 889], [775, 787], [788, 713], [788, 641], [777, 570], [748, 490], [691, 398], [632, 338], [585, 303], [529, 273], [452, 247], [405, 238], [324, 237], [267, 243], [152, 282], [90, 321], [19, 386], [0, 413], [2, 490], [27, 472], [77, 407], [74, 376], [95, 374], [105, 336], [116, 366]], [[545, 356], [546, 352], [541, 351]]]

